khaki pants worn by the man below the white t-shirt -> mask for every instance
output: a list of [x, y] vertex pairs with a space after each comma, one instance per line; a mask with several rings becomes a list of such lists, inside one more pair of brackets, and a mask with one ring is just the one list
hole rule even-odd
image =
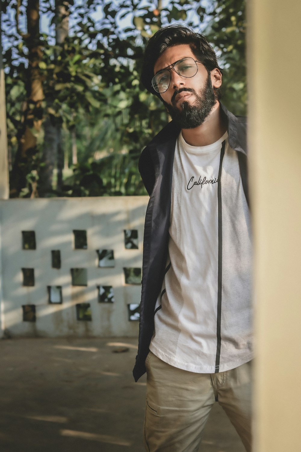
[[145, 364], [146, 451], [197, 452], [215, 401], [246, 451], [251, 451], [251, 362], [227, 372], [202, 374], [170, 366], [149, 352]]

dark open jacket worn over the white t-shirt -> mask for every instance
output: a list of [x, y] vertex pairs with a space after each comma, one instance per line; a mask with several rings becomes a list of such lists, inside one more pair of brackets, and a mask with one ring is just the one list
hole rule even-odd
[[[237, 151], [241, 180], [249, 204], [247, 178], [246, 119], [236, 117], [220, 104], [227, 118], [228, 142]], [[162, 287], [168, 250], [171, 209], [172, 165], [181, 129], [169, 122], [146, 146], [139, 159], [139, 171], [150, 195], [145, 215], [139, 346], [133, 370], [135, 381], [145, 372], [145, 359], [154, 331], [154, 310]]]

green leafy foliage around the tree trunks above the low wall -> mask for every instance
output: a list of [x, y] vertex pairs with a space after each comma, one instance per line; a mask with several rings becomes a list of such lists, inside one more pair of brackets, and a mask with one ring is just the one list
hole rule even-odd
[[[4, 64], [8, 141], [12, 160], [22, 133], [26, 102], [26, 39], [16, 31], [9, 14], [14, 1], [6, 1], [3, 14]], [[26, 6], [26, 5], [25, 5]], [[25, 17], [20, 9], [20, 24]], [[245, 3], [243, 0], [170, 0], [162, 6], [144, 0], [69, 1], [69, 36], [56, 45], [54, 0], [40, 0], [49, 29], [40, 37], [45, 101], [37, 117], [61, 124], [63, 148], [70, 170], [64, 185], [55, 183], [48, 196], [102, 196], [146, 194], [138, 172], [144, 146], [167, 123], [157, 97], [139, 83], [144, 46], [162, 25], [185, 21], [204, 33], [225, 67], [222, 101], [236, 114], [246, 106]], [[23, 22], [22, 22], [23, 21]], [[21, 26], [20, 25], [20, 26]], [[78, 163], [72, 165], [72, 131], [76, 134]], [[74, 145], [74, 143], [73, 143]], [[39, 155], [28, 167], [20, 196], [39, 189]], [[32, 173], [33, 171], [33, 173]]]

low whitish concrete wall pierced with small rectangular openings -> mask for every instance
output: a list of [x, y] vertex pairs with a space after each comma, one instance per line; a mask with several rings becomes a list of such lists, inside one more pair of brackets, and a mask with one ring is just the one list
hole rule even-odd
[[[129, 306], [140, 302], [141, 276], [126, 283], [124, 268], [142, 267], [147, 203], [148, 197], [0, 201], [2, 328], [13, 336], [137, 335], [139, 314]], [[87, 231], [87, 249], [74, 249], [74, 230]], [[138, 249], [125, 247], [124, 230], [138, 231]], [[23, 249], [22, 231], [35, 232], [35, 250]], [[60, 250], [61, 268], [52, 268], [52, 250]], [[114, 267], [98, 267], [96, 250], [113, 250]], [[22, 268], [34, 269], [34, 286], [23, 285]], [[87, 270], [87, 286], [72, 285], [71, 268]], [[100, 301], [97, 286], [111, 286], [114, 302]], [[47, 287], [61, 287], [61, 304], [49, 302]], [[90, 304], [92, 320], [77, 320], [81, 303]], [[24, 321], [23, 306], [32, 305], [36, 320], [28, 312]]]

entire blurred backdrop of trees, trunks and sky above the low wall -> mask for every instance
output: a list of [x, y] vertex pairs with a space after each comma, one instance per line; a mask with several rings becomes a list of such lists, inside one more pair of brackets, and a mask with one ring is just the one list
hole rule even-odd
[[244, 0], [4, 0], [10, 198], [147, 194], [138, 158], [168, 118], [139, 83], [161, 26], [204, 33], [246, 113]]

